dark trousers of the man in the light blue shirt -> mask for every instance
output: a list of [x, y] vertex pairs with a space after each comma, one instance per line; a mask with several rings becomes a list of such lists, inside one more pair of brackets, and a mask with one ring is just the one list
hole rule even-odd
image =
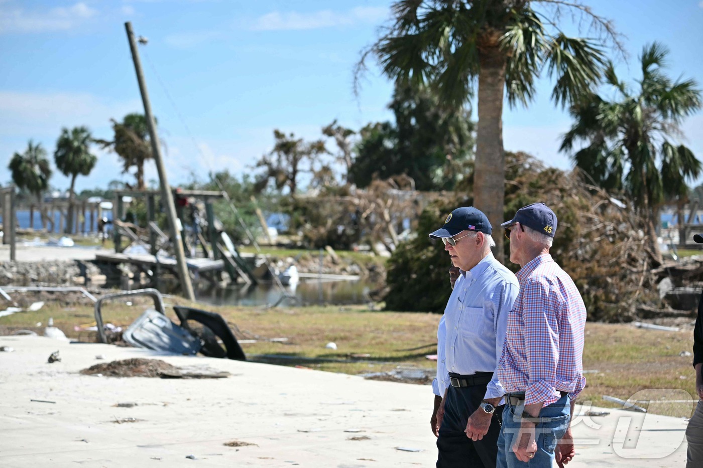
[[491, 427], [480, 441], [466, 436], [466, 422], [486, 395], [486, 385], [450, 386], [444, 402], [444, 420], [437, 438], [437, 468], [495, 468], [501, 410], [496, 409]]

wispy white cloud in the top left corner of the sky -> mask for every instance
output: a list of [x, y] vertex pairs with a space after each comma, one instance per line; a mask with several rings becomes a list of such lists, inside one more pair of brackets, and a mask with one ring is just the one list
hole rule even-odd
[[0, 34], [72, 30], [97, 14], [95, 8], [83, 2], [67, 8], [51, 8], [48, 11], [4, 7], [0, 8]]

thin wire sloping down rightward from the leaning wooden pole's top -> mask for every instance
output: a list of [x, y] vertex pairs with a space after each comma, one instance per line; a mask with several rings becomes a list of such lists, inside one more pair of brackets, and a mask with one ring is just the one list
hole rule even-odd
[[297, 297], [295, 297], [295, 294], [290, 294], [290, 292], [285, 290], [283, 283], [280, 282], [280, 278], [278, 278], [278, 275], [276, 274], [274, 269], [271, 268], [271, 263], [269, 262], [268, 257], [263, 253], [261, 247], [259, 247], [259, 243], [257, 242], [256, 237], [252, 234], [251, 230], [249, 229], [249, 226], [247, 226], [246, 223], [244, 222], [243, 216], [240, 214], [239, 209], [237, 209], [236, 205], [229, 197], [227, 190], [225, 190], [224, 185], [217, 177], [217, 173], [214, 170], [212, 170], [212, 166], [209, 162], [209, 157], [206, 157], [205, 153], [202, 152], [200, 145], [198, 144], [198, 141], [195, 139], [195, 136], [193, 135], [193, 132], [191, 131], [190, 127], [188, 126], [186, 119], [183, 117], [183, 114], [181, 114], [181, 112], [178, 108], [178, 105], [176, 105], [176, 101], [174, 100], [174, 98], [172, 98], [171, 93], [169, 93], [165, 82], [161, 79], [160, 74], [157, 72], [156, 67], [154, 66], [154, 63], [151, 61], [149, 54], [146, 52], [146, 50], [144, 50], [144, 48], [142, 48], [142, 50], [144, 51], [143, 55], [146, 58], [146, 62], [151, 67], [151, 71], [153, 72], [154, 76], [156, 77], [156, 81], [161, 86], [162, 91], [164, 92], [167, 100], [169, 101], [170, 105], [172, 106], [172, 108], [176, 114], [176, 117], [178, 117], [178, 119], [181, 121], [183, 128], [186, 130], [186, 134], [188, 134], [188, 136], [191, 138], [191, 143], [193, 143], [193, 146], [195, 147], [195, 150], [198, 152], [198, 155], [200, 155], [201, 160], [205, 161], [205, 164], [207, 164], [207, 169], [209, 170], [210, 178], [212, 178], [212, 180], [215, 183], [217, 183], [217, 186], [219, 187], [219, 189], [224, 197], [224, 200], [229, 204], [229, 207], [232, 210], [232, 212], [235, 216], [235, 219], [237, 219], [237, 221], [239, 221], [240, 226], [243, 228], [244, 232], [247, 235], [247, 238], [250, 240], [250, 242], [254, 246], [254, 249], [256, 249], [257, 254], [261, 255], [262, 258], [264, 259], [264, 263], [266, 264], [266, 268], [268, 269], [269, 274], [271, 275], [271, 278], [273, 278], [273, 282], [280, 289], [281, 296], [278, 298], [278, 301], [276, 301], [274, 304], [266, 304], [266, 307], [276, 307], [285, 298], [297, 300]]

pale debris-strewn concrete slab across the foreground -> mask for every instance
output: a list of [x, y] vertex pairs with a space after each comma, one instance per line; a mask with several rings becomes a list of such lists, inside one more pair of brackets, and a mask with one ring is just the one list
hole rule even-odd
[[[436, 460], [429, 386], [44, 337], [0, 337], [0, 346], [15, 350], [0, 353], [3, 467], [432, 467]], [[57, 350], [61, 362], [47, 363]], [[99, 354], [105, 361], [96, 360]], [[232, 376], [77, 373], [130, 357], [208, 366]], [[116, 406], [128, 402], [137, 405]], [[683, 466], [684, 420], [607, 411], [574, 425], [579, 443], [570, 468]], [[115, 423], [127, 417], [140, 421]], [[256, 445], [224, 446], [229, 441]]]

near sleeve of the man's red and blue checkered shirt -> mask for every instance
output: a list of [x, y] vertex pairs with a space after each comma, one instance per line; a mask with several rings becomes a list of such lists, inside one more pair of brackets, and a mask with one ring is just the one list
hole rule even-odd
[[550, 401], [555, 394], [559, 362], [558, 299], [550, 286], [538, 281], [524, 287], [523, 320], [529, 381], [525, 405]]

